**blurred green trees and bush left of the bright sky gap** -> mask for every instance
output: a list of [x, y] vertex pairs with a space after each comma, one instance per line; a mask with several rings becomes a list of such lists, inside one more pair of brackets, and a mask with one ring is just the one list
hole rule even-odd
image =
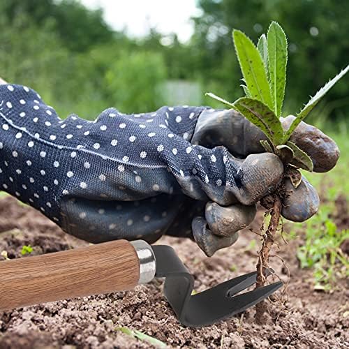
[[141, 46], [107, 27], [101, 10], [74, 0], [0, 2], [1, 76], [40, 91], [62, 117], [160, 107], [163, 59]]

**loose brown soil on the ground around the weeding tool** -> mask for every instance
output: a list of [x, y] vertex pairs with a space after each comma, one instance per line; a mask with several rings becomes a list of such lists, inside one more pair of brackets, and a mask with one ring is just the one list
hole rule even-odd
[[[347, 217], [348, 218], [348, 217]], [[244, 231], [234, 246], [206, 258], [191, 241], [164, 237], [195, 275], [200, 292], [255, 269], [257, 246]], [[40, 213], [14, 198], [0, 200], [0, 252], [21, 258], [23, 245], [31, 255], [86, 244], [62, 232]], [[315, 292], [311, 271], [299, 269], [295, 251], [299, 240], [281, 246], [279, 255], [290, 272], [288, 300], [272, 304], [269, 321], [255, 325], [254, 309], [218, 325], [182, 327], [162, 294], [162, 281], [138, 286], [131, 292], [30, 306], [0, 312], [0, 348], [150, 348], [119, 327], [138, 329], [169, 348], [349, 348], [349, 290], [345, 281], [332, 294]], [[1, 258], [1, 257], [0, 257]], [[24, 257], [30, 258], [30, 257]], [[3, 259], [3, 258], [1, 258]], [[272, 265], [286, 281], [288, 270], [279, 260]], [[1, 290], [0, 290], [1, 295]]]

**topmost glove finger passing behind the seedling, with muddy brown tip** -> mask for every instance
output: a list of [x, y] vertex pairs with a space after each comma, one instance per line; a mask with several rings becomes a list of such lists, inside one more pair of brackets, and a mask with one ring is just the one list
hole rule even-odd
[[[288, 130], [294, 119], [292, 115], [281, 118], [283, 128]], [[265, 151], [260, 140], [267, 140], [267, 137], [242, 114], [234, 110], [205, 110], [198, 119], [191, 142], [207, 148], [223, 145], [232, 155], [245, 158]], [[314, 172], [327, 172], [338, 161], [340, 153], [336, 142], [304, 121], [297, 126], [290, 140], [309, 154]]]

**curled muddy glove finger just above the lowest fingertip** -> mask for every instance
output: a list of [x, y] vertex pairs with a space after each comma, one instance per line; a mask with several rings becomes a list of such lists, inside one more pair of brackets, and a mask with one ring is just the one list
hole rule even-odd
[[255, 218], [255, 205], [231, 205], [221, 207], [216, 202], [207, 202], [205, 218], [214, 235], [230, 237], [246, 228]]

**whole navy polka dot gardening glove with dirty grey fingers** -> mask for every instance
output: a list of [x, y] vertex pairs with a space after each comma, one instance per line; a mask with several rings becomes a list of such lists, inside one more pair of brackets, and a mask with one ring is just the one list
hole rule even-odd
[[[315, 170], [332, 168], [336, 144], [307, 124], [297, 130], [293, 141]], [[62, 120], [35, 91], [0, 86], [0, 188], [89, 242], [168, 234], [195, 239], [207, 255], [230, 246], [281, 181], [283, 164], [262, 152], [264, 138], [241, 115], [207, 107]], [[304, 221], [318, 202], [303, 179], [290, 186], [283, 216]]]

